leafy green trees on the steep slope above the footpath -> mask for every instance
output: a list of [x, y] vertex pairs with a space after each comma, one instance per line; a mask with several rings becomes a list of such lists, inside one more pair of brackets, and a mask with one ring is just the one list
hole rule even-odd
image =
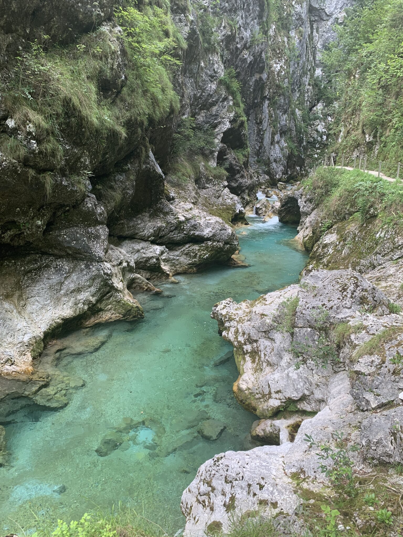
[[402, 11], [403, 0], [357, 2], [322, 55], [340, 153], [351, 153], [370, 137], [377, 158], [403, 159]]

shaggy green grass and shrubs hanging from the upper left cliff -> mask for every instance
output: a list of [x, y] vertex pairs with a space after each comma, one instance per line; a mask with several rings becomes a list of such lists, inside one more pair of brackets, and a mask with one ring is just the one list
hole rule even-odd
[[[93, 149], [102, 150], [108, 139], [121, 144], [127, 129], [140, 140], [142, 129], [178, 110], [170, 78], [184, 42], [170, 18], [169, 3], [159, 4], [140, 10], [129, 0], [125, 8], [117, 8], [129, 61], [126, 84], [113, 98], [100, 92], [99, 81], [116, 77], [120, 34], [99, 28], [68, 46], [51, 46], [44, 36], [42, 43], [30, 43], [16, 57], [0, 88], [2, 103], [19, 130], [34, 133], [38, 156], [50, 160], [53, 169], [63, 162], [66, 137], [95, 141]], [[1, 150], [20, 162], [26, 153], [18, 141], [4, 136]]]

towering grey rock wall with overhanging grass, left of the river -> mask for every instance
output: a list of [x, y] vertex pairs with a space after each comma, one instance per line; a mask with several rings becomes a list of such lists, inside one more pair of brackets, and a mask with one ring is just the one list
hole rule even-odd
[[[231, 222], [257, 184], [303, 170], [296, 103], [313, 102], [316, 56], [343, 4], [170, 10], [176, 95], [161, 84], [147, 119], [111, 2], [0, 6], [3, 373], [29, 373], [67, 321], [141, 316], [128, 289], [153, 291], [145, 278], [231, 260]], [[171, 165], [181, 117], [215, 139], [187, 176]]]

